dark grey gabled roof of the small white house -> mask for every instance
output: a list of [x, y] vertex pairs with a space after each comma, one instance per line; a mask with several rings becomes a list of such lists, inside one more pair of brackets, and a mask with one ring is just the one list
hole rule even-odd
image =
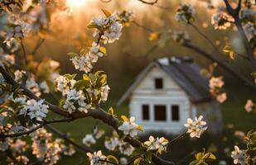
[[156, 66], [162, 68], [186, 92], [192, 102], [210, 100], [208, 78], [200, 75], [200, 66], [189, 57], [171, 57], [157, 59], [148, 64], [138, 74], [138, 77], [132, 86], [128, 88], [128, 91], [120, 98], [118, 105], [132, 94], [133, 90], [135, 90], [150, 69]]

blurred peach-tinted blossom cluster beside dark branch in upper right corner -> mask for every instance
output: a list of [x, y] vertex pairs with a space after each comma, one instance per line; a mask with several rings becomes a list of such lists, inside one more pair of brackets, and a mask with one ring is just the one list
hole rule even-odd
[[230, 22], [232, 21], [234, 21], [232, 16], [229, 16], [225, 12], [217, 12], [211, 16], [211, 24], [215, 26], [215, 29], [225, 30], [231, 26]]

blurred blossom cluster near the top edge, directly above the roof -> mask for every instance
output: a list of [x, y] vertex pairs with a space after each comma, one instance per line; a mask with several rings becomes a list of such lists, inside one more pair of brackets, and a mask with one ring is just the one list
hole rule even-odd
[[175, 19], [183, 25], [187, 25], [195, 19], [195, 9], [191, 5], [181, 4], [176, 10]]

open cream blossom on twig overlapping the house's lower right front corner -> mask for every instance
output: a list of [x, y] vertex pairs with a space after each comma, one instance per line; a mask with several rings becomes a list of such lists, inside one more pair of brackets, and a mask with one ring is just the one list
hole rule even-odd
[[200, 138], [200, 134], [204, 133], [207, 130], [206, 122], [202, 120], [203, 116], [200, 115], [198, 118], [196, 117], [195, 120], [191, 120], [188, 118], [186, 120], [187, 133], [191, 135], [191, 138]]

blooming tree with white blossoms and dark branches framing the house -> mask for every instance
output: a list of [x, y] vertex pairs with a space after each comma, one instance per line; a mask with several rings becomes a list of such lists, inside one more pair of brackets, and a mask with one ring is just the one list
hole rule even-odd
[[[157, 4], [157, 0], [153, 2], [138, 1], [147, 5]], [[227, 0], [224, 0], [225, 6], [220, 5], [220, 7], [213, 7], [211, 1], [207, 2], [209, 7], [215, 10], [211, 18], [215, 29], [225, 30], [233, 25], [237, 27], [244, 44], [246, 59], [251, 63], [254, 71], [252, 75], [255, 76], [253, 2], [246, 0], [242, 4], [242, 1], [239, 0], [236, 8], [233, 8]], [[141, 142], [138, 140], [138, 132], [142, 132], [143, 128], [142, 125], [136, 123], [134, 116], [130, 118], [125, 115], [119, 116], [115, 114], [112, 107], [109, 108], [109, 111], [104, 111], [101, 108], [101, 105], [108, 101], [110, 87], [107, 75], [103, 71], [95, 71], [94, 64], [107, 54], [105, 45], [118, 41], [123, 28], [133, 22], [132, 11], [109, 12], [102, 9], [102, 16], [94, 16], [87, 26], [89, 30], [94, 31], [94, 42], [88, 48], [80, 50], [80, 53], [68, 54], [70, 62], [80, 72], [80, 75], [72, 73], [61, 75], [58, 72], [60, 64], [57, 61], [43, 59], [41, 62], [37, 62], [32, 56], [36, 51], [32, 55], [27, 55], [23, 40], [27, 35], [44, 36], [50, 33], [51, 18], [70, 12], [65, 1], [2, 0], [0, 7], [0, 38], [2, 40], [0, 48], [0, 151], [7, 153], [7, 163], [30, 164], [36, 159], [38, 163], [56, 164], [61, 155], [72, 156], [77, 148], [85, 151], [85, 157], [87, 155], [91, 165], [140, 164], [142, 162], [171, 165], [175, 163], [161, 158], [162, 153], [167, 152], [169, 145], [186, 134], [190, 134], [191, 138], [200, 138], [201, 134], [207, 130], [207, 123], [200, 115], [195, 120], [187, 119], [187, 123], [184, 124], [186, 131], [175, 139], [154, 138], [150, 135], [147, 141]], [[215, 48], [212, 41], [202, 34], [193, 23], [196, 20], [196, 10], [191, 4], [181, 4], [176, 10], [175, 19], [183, 26], [192, 26]], [[167, 35], [169, 37], [166, 37]], [[46, 39], [42, 38], [40, 42], [42, 40]], [[215, 59], [211, 54], [191, 44], [186, 31], [152, 32], [150, 40], [171, 40], [196, 50], [227, 68], [229, 72], [234, 73], [244, 82], [249, 82], [250, 86], [255, 88], [254, 82], [250, 82], [248, 78], [234, 72], [233, 68], [223, 64], [221, 60]], [[17, 60], [16, 54], [19, 49], [22, 50], [23, 62]], [[218, 54], [221, 53], [218, 49], [215, 51]], [[225, 46], [224, 51], [229, 54], [231, 59], [234, 59], [235, 55], [240, 55], [229, 45]], [[223, 77], [214, 76], [212, 69], [207, 70], [207, 73], [210, 93], [220, 103], [224, 102], [227, 95], [223, 89], [225, 85]], [[44, 97], [46, 93], [52, 96], [58, 93], [61, 96], [58, 99], [59, 104], [53, 105], [47, 101]], [[248, 112], [254, 111], [254, 102], [247, 101], [244, 108]], [[59, 118], [49, 120], [50, 112]], [[110, 137], [104, 136], [105, 130], [94, 127], [91, 134], [85, 135], [82, 140], [83, 145], [80, 145], [51, 125], [89, 116], [110, 125], [113, 128], [113, 134]], [[54, 138], [53, 134], [56, 134], [58, 138]], [[101, 150], [90, 148], [103, 137], [105, 148], [122, 154], [123, 157], [119, 161], [114, 155], [105, 155]], [[234, 151], [231, 153], [234, 164], [255, 163], [255, 137], [255, 132], [250, 131], [244, 137], [247, 148], [239, 149], [238, 146], [234, 146]], [[31, 140], [31, 143], [25, 140], [27, 138]], [[29, 152], [35, 158], [30, 158], [27, 155]], [[191, 164], [207, 164], [215, 159], [213, 153], [204, 150], [201, 153], [196, 153], [195, 160]]]

